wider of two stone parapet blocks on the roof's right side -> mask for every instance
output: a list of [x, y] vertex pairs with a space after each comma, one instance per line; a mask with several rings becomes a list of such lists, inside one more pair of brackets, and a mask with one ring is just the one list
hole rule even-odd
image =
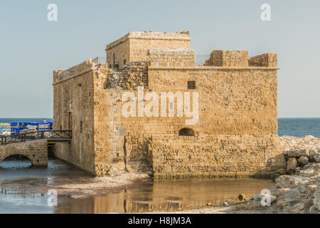
[[248, 66], [247, 51], [215, 50], [206, 61], [205, 66]]

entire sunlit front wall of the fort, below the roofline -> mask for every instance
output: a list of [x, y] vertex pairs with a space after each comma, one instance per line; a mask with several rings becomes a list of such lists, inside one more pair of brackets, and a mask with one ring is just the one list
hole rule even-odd
[[[95, 93], [99, 175], [125, 170], [152, 170], [155, 177], [271, 175], [284, 167], [277, 140], [277, 68], [149, 66], [147, 72], [147, 84], [142, 83], [144, 64], [130, 66], [125, 73], [108, 71], [109, 76], [102, 77], [99, 88], [107, 78], [114, 81]], [[188, 90], [188, 81], [196, 81], [196, 89]], [[197, 91], [198, 123], [186, 125], [188, 118], [176, 115], [125, 118], [122, 94], [131, 91], [137, 97], [137, 86], [159, 95]], [[178, 136], [181, 128], [192, 128], [195, 136]]]

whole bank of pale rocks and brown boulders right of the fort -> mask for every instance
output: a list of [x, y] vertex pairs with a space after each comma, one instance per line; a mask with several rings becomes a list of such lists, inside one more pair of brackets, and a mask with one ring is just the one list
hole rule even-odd
[[[277, 188], [271, 190], [270, 207], [262, 207], [266, 195], [256, 195], [241, 209], [265, 209], [270, 213], [320, 213], [320, 139], [312, 136], [280, 138], [287, 170], [278, 170]], [[289, 174], [289, 175], [287, 175]]]

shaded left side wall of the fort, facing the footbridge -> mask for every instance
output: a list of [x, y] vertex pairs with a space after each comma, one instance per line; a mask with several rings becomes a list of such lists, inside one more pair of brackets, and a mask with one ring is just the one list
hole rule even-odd
[[92, 173], [95, 173], [93, 76], [100, 65], [89, 59], [68, 70], [55, 71], [53, 76], [54, 129], [73, 130], [70, 144], [56, 143], [54, 155]]

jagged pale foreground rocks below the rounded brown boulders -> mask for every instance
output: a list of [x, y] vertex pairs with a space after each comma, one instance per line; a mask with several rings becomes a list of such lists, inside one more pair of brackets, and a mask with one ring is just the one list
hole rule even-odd
[[[256, 195], [241, 209], [265, 209], [270, 213], [320, 213], [320, 163], [309, 163], [299, 175], [277, 177], [277, 188], [271, 190], [270, 207], [262, 207], [266, 195]], [[266, 201], [267, 202], [267, 201]]]

